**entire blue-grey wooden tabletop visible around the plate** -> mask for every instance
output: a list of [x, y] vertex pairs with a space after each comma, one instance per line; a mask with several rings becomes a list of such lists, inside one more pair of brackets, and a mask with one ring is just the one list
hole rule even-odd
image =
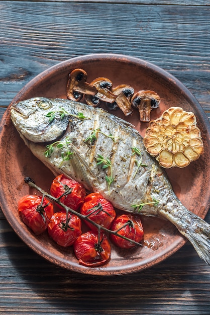
[[[21, 88], [48, 67], [111, 52], [169, 71], [210, 118], [209, 1], [0, 1], [0, 44], [1, 117]], [[208, 315], [210, 267], [187, 243], [136, 274], [77, 274], [32, 252], [0, 210], [0, 314], [27, 313]]]

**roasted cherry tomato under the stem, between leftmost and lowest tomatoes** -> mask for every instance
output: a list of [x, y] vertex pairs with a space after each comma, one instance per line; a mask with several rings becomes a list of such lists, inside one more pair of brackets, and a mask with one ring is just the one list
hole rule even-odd
[[48, 224], [50, 237], [60, 246], [71, 246], [81, 235], [81, 220], [72, 213], [56, 212]]

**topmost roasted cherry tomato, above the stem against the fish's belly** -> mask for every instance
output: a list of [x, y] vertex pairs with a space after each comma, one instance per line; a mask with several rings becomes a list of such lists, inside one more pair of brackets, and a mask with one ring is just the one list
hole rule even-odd
[[[60, 201], [72, 210], [77, 210], [86, 196], [86, 191], [82, 185], [73, 179], [65, 177], [63, 174], [58, 175], [53, 180], [50, 193], [55, 198], [60, 197]], [[63, 209], [59, 205], [58, 207]]]

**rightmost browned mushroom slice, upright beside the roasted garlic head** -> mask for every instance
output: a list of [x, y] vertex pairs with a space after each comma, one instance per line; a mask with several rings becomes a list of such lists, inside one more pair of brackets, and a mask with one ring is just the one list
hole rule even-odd
[[131, 99], [131, 105], [138, 108], [140, 121], [149, 122], [150, 112], [153, 108], [158, 108], [160, 104], [159, 95], [150, 90], [141, 90], [137, 92]]

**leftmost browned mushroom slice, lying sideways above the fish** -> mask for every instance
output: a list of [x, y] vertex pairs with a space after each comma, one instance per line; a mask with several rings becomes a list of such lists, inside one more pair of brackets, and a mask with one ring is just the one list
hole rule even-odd
[[87, 73], [83, 69], [74, 69], [69, 74], [66, 94], [67, 98], [74, 101], [80, 101], [83, 94], [95, 95], [97, 90], [86, 82]]

